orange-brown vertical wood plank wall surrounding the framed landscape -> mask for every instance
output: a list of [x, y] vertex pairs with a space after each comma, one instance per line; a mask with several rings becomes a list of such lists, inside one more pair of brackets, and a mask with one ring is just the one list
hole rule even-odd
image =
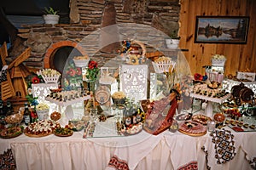
[[[186, 38], [181, 39], [181, 46], [189, 49], [184, 54], [192, 74], [198, 71], [203, 73], [201, 66], [211, 63], [212, 54], [224, 54], [227, 57], [226, 75], [236, 75], [236, 71], [246, 68], [256, 71], [255, 0], [182, 0], [181, 7], [183, 15], [180, 18], [180, 31], [183, 35], [186, 33]], [[247, 44], [194, 43], [196, 15], [250, 16]]]

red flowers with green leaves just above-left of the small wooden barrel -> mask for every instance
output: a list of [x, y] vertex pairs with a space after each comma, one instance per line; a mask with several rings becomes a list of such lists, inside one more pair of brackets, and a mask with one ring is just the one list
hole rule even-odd
[[85, 77], [90, 81], [90, 82], [95, 82], [96, 78], [98, 77], [100, 72], [100, 69], [98, 67], [98, 63], [94, 60], [90, 60], [88, 64], [88, 68], [86, 71]]

